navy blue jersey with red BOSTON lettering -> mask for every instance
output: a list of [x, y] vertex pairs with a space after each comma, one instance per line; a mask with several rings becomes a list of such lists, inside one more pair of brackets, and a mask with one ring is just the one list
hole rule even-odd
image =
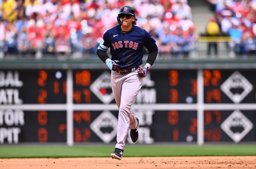
[[109, 29], [103, 35], [98, 49], [110, 48], [111, 60], [118, 60], [118, 69], [130, 69], [142, 64], [143, 46], [154, 47], [156, 41], [139, 26], [132, 26], [131, 31], [121, 32], [121, 25]]

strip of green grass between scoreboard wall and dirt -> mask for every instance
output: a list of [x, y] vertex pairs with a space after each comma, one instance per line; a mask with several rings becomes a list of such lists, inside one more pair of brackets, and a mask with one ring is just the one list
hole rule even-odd
[[[56, 146], [56, 145], [0, 145], [0, 158], [61, 158], [61, 157], [109, 157], [114, 146]], [[255, 145], [204, 145], [204, 146], [156, 146], [128, 145], [125, 157], [155, 156], [252, 156]]]

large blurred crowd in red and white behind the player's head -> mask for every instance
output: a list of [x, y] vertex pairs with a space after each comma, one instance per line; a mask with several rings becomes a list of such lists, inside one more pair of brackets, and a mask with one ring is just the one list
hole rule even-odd
[[94, 55], [103, 33], [116, 26], [123, 5], [135, 8], [137, 26], [156, 40], [159, 54], [188, 56], [196, 50], [187, 0], [1, 1], [0, 52], [4, 54]]

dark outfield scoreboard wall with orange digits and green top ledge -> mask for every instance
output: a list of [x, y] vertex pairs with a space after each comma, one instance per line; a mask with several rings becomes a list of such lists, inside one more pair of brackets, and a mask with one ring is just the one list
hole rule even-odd
[[[255, 63], [157, 60], [133, 105], [138, 143], [255, 142]], [[0, 65], [1, 144], [116, 141], [118, 109], [99, 59]]]

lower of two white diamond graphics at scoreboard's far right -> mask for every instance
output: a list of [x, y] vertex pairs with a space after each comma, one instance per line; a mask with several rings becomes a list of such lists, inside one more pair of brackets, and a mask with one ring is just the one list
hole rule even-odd
[[220, 128], [235, 143], [239, 143], [253, 128], [253, 124], [243, 113], [239, 110], [235, 110], [221, 123]]

